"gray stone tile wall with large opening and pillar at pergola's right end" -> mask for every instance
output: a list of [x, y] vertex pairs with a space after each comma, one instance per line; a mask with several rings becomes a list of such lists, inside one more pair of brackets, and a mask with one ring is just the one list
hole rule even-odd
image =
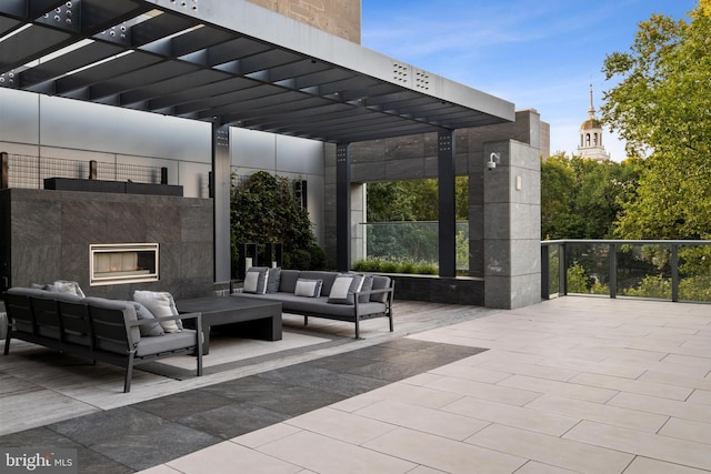
[[[475, 282], [475, 300], [483, 295], [488, 307], [513, 309], [540, 301], [540, 155], [548, 153], [549, 131], [535, 110], [523, 110], [513, 122], [454, 134], [455, 172], [469, 177], [469, 276]], [[326, 152], [327, 209], [336, 209], [336, 147], [327, 145]], [[352, 194], [362, 183], [438, 174], [437, 133], [352, 143], [350, 152]], [[492, 171], [485, 167], [491, 152], [501, 157]], [[360, 222], [364, 216], [351, 220], [352, 235]], [[336, 255], [334, 223], [336, 212], [327, 212], [329, 259]], [[448, 288], [447, 283], [440, 286]], [[452, 294], [445, 300], [455, 302], [458, 296]]]

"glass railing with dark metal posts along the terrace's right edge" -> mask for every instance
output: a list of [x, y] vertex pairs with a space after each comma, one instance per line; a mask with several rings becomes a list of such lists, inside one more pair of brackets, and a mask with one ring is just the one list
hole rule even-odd
[[711, 241], [541, 242], [541, 296], [711, 302]]

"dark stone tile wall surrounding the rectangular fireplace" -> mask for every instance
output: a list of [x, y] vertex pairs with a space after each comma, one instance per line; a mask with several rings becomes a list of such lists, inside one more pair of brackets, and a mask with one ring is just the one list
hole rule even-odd
[[[0, 278], [11, 286], [73, 280], [88, 295], [117, 299], [139, 289], [176, 297], [212, 292], [209, 199], [8, 189], [0, 211]], [[89, 244], [133, 242], [160, 244], [160, 280], [90, 286]]]

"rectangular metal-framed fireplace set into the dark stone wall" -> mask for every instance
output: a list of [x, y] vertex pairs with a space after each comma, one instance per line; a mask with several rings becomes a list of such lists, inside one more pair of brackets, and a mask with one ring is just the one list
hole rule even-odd
[[157, 243], [89, 245], [89, 278], [92, 286], [158, 281]]

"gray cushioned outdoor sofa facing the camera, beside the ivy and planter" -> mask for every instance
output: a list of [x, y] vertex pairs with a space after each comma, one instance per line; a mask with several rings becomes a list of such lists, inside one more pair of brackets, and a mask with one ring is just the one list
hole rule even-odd
[[242, 292], [231, 295], [278, 301], [284, 313], [303, 315], [304, 325], [310, 316], [351, 322], [356, 339], [360, 322], [373, 317], [387, 317], [393, 331], [394, 280], [384, 275], [253, 266]]

